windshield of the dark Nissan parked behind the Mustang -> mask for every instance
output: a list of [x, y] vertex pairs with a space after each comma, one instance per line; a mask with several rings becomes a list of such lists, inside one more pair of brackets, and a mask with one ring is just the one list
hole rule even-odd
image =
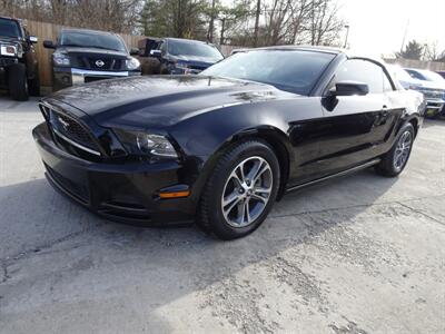
[[62, 32], [60, 37], [60, 46], [127, 51], [123, 41], [117, 36], [95, 32]]

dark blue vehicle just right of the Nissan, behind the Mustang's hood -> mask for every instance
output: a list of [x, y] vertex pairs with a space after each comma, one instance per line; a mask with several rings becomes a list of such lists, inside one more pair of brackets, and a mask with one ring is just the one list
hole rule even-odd
[[147, 46], [144, 53], [159, 59], [161, 75], [196, 75], [224, 59], [217, 47], [198, 40], [164, 38]]

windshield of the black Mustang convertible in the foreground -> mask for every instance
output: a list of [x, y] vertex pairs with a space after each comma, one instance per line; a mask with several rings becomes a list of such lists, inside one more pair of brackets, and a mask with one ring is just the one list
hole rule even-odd
[[230, 56], [201, 75], [258, 81], [308, 95], [334, 58], [333, 53], [316, 51], [254, 50]]

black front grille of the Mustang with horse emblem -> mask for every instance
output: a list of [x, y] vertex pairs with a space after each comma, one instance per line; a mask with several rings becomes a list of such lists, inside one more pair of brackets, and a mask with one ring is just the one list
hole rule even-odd
[[41, 109], [49, 129], [58, 139], [57, 143], [62, 145], [67, 151], [73, 153], [80, 149], [100, 156], [100, 149], [92, 135], [78, 120], [46, 106], [41, 106]]

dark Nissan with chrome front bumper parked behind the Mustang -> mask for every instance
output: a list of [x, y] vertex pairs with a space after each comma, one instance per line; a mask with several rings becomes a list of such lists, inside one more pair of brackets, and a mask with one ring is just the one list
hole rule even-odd
[[46, 40], [52, 53], [52, 88], [59, 90], [73, 85], [107, 78], [140, 76], [138, 49], [128, 51], [116, 33], [63, 29], [57, 43]]

